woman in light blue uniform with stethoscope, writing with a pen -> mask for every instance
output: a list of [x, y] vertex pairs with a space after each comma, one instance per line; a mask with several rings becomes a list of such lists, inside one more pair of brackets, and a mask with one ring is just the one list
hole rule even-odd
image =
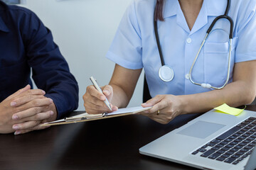
[[142, 104], [153, 106], [142, 114], [159, 123], [223, 103], [250, 104], [256, 94], [256, 0], [133, 0], [107, 58], [116, 63], [112, 79], [104, 95], [87, 87], [87, 113], [109, 111], [106, 97], [112, 111], [126, 107], [142, 68], [153, 97]]

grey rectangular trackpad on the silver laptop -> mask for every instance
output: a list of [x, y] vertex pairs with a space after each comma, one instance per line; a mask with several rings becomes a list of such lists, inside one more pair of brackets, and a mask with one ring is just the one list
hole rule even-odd
[[199, 120], [196, 123], [193, 123], [192, 125], [188, 126], [188, 128], [185, 128], [177, 133], [181, 135], [187, 135], [191, 137], [198, 137], [204, 139], [223, 127], [225, 127], [225, 125], [209, 123]]

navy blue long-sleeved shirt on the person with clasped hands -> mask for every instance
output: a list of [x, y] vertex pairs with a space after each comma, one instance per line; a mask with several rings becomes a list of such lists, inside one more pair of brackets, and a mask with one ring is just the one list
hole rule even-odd
[[58, 118], [78, 108], [78, 83], [35, 13], [0, 1], [0, 101], [31, 84], [46, 91]]

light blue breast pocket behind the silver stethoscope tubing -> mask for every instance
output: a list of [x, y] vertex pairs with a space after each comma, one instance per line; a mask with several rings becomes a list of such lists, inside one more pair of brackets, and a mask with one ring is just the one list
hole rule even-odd
[[[237, 38], [233, 38], [230, 58], [230, 79], [232, 79], [235, 46]], [[229, 42], [206, 42], [204, 55], [205, 82], [215, 87], [225, 84], [228, 75]]]

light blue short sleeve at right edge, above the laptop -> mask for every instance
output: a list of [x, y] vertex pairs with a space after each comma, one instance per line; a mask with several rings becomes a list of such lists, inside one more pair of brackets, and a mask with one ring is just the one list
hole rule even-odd
[[235, 62], [256, 60], [256, 4], [254, 2], [251, 1], [245, 10], [245, 15], [240, 16], [242, 21], [238, 26], [238, 44], [235, 50]]

